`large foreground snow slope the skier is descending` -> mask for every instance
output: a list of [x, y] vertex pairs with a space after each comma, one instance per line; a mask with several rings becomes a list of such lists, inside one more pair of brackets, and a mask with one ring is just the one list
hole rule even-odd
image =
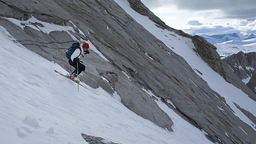
[[82, 87], [78, 93], [54, 69], [67, 73], [0, 26], [1, 144], [87, 144], [81, 132], [122, 144], [212, 144], [170, 108], [174, 132], [128, 110], [116, 93], [98, 88], [97, 96]]

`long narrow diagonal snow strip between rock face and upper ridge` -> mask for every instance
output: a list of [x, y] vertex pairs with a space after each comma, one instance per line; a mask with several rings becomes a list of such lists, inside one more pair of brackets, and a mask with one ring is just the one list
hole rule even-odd
[[[256, 124], [254, 124], [247, 116], [245, 116], [238, 108], [236, 108], [233, 103], [235, 102], [241, 108], [244, 108], [256, 116], [256, 102], [249, 98], [248, 95], [242, 92], [242, 90], [226, 82], [226, 80], [224, 80], [222, 76], [212, 70], [212, 68], [210, 68], [210, 66], [208, 66], [208, 64], [206, 64], [202, 58], [198, 57], [198, 55], [193, 50], [195, 46], [191, 39], [184, 38], [178, 34], [175, 34], [174, 32], [162, 30], [161, 28], [156, 27], [155, 23], [152, 22], [147, 16], [142, 16], [130, 8], [130, 4], [127, 2], [127, 0], [115, 0], [115, 2], [118, 3], [146, 30], [164, 42], [164, 44], [168, 46], [170, 50], [182, 56], [186, 62], [188, 62], [188, 64], [195, 70], [196, 74], [198, 74], [198, 76], [203, 78], [208, 83], [212, 90], [218, 92], [220, 96], [226, 99], [227, 104], [232, 108], [232, 110], [234, 110], [234, 114], [256, 131], [256, 128], [254, 127]], [[196, 69], [202, 72], [202, 75], [199, 74]]]

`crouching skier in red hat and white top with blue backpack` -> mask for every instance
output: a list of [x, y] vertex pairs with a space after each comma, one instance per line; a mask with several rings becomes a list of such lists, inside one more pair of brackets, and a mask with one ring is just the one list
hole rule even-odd
[[84, 52], [84, 54], [90, 54], [90, 52], [88, 51], [89, 47], [90, 46], [88, 43], [80, 44], [79, 42], [77, 42], [72, 44], [72, 46], [65, 51], [68, 58], [68, 63], [75, 68], [74, 72], [70, 74], [70, 78], [74, 79], [75, 77], [77, 77], [77, 75], [85, 70], [85, 66], [80, 63], [81, 61], [79, 60], [79, 58], [80, 55], [82, 55], [82, 51]]

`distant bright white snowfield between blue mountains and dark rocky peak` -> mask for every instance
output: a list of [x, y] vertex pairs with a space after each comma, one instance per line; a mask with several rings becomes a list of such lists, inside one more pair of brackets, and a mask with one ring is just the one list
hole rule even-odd
[[230, 56], [240, 51], [244, 53], [256, 52], [256, 38], [250, 40], [230, 40], [219, 44], [214, 44], [218, 54], [221, 56]]

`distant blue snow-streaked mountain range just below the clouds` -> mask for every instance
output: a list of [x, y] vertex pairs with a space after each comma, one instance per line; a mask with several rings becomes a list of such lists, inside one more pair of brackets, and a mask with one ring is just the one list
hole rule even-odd
[[[195, 34], [192, 34], [195, 35]], [[217, 44], [217, 43], [222, 43], [222, 42], [227, 42], [230, 40], [249, 40], [252, 38], [256, 38], [256, 34], [250, 34], [250, 35], [243, 35], [239, 33], [232, 33], [232, 34], [215, 34], [212, 36], [203, 34], [199, 35], [205, 40], [207, 40], [211, 44]]]

